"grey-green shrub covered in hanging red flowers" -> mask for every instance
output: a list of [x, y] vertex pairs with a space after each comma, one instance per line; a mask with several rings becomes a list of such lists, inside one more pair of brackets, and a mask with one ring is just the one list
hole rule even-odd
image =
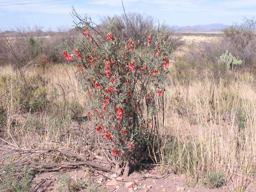
[[[148, 31], [145, 47], [137, 49], [132, 39], [122, 40], [111, 32], [95, 40], [89, 27], [81, 28], [84, 38], [74, 53], [80, 81], [93, 92], [91, 110], [98, 145], [114, 164], [129, 167], [141, 161], [157, 126], [156, 98], [163, 97], [171, 45], [169, 36]], [[127, 174], [127, 173], [126, 173]]]

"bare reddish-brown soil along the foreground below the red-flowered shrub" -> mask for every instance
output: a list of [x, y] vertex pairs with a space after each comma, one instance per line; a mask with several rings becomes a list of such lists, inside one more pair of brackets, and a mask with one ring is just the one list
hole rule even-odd
[[[67, 170], [68, 171], [68, 170]], [[70, 178], [69, 184], [86, 181], [93, 181], [93, 184], [87, 189], [77, 191], [116, 191], [116, 192], [130, 192], [130, 191], [145, 191], [145, 192], [213, 192], [213, 191], [232, 191], [227, 186], [220, 189], [207, 189], [205, 187], [189, 187], [186, 185], [185, 176], [177, 174], [159, 175], [156, 171], [140, 171], [132, 173], [128, 178], [118, 177], [119, 181], [110, 178], [108, 173], [94, 172], [93, 174], [86, 168], [68, 172], [53, 172], [43, 173], [37, 175], [33, 180], [34, 191], [60, 191], [60, 186], [65, 186], [67, 183], [60, 183], [63, 178]], [[147, 177], [143, 179], [143, 177]], [[121, 180], [121, 181], [120, 181]], [[95, 186], [99, 186], [97, 190]], [[128, 188], [127, 188], [128, 187]], [[64, 189], [64, 190], [63, 190]], [[63, 191], [66, 191], [63, 188]], [[94, 189], [94, 190], [92, 190]], [[74, 190], [75, 191], [75, 190]], [[253, 191], [249, 188], [247, 191]]]

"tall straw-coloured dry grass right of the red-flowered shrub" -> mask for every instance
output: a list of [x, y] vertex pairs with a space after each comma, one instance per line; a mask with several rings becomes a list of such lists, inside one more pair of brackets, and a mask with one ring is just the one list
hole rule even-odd
[[[216, 87], [210, 79], [169, 87], [165, 94], [166, 164], [187, 175], [190, 184], [205, 182], [211, 172], [224, 172], [227, 187], [244, 191], [255, 174], [255, 90], [239, 77]], [[166, 148], [166, 147], [165, 147]]]

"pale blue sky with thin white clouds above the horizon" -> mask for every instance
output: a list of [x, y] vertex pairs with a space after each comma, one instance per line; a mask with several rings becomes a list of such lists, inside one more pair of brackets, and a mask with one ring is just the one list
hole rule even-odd
[[[256, 0], [123, 1], [127, 12], [145, 13], [170, 26], [231, 25], [256, 15]], [[123, 11], [121, 0], [0, 0], [0, 30], [35, 25], [44, 30], [71, 27], [71, 6], [81, 15], [91, 15], [96, 23], [100, 17]]]

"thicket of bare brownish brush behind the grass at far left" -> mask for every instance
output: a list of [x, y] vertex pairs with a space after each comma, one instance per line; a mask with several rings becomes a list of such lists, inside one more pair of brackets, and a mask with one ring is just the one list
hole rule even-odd
[[29, 64], [41, 65], [63, 61], [62, 52], [71, 47], [78, 33], [60, 28], [58, 32], [44, 32], [42, 28], [21, 27], [2, 33], [0, 37], [0, 65], [10, 63], [14, 68]]

